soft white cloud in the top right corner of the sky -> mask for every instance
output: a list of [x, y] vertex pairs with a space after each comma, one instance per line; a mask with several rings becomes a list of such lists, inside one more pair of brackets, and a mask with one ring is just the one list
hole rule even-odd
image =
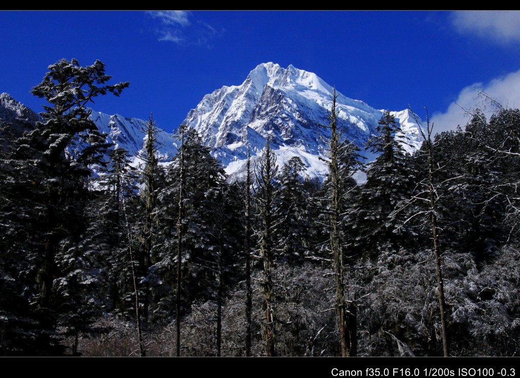
[[462, 10], [453, 12], [452, 23], [462, 34], [477, 34], [504, 44], [520, 42], [517, 10]]

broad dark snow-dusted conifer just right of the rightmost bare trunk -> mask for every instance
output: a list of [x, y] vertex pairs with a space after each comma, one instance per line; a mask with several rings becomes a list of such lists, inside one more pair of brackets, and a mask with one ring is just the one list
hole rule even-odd
[[437, 170], [438, 180], [449, 180], [439, 196], [439, 210], [445, 210], [439, 212], [443, 243], [471, 252], [479, 261], [493, 255], [509, 233], [502, 224], [505, 198], [497, 191], [506, 187], [507, 174], [493, 151], [497, 146], [489, 147], [491, 134], [484, 114], [476, 112], [464, 129], [444, 131], [435, 138], [435, 161], [443, 168]]

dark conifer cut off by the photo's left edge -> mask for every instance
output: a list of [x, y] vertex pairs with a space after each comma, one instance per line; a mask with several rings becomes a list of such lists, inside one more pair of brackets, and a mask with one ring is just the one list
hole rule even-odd
[[60, 355], [55, 318], [35, 308], [36, 218], [40, 171], [19, 146], [15, 127], [0, 121], [0, 356]]

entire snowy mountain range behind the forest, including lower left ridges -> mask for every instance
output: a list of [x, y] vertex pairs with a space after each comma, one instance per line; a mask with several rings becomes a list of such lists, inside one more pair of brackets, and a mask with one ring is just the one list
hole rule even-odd
[[[188, 112], [183, 123], [199, 132], [204, 145], [211, 147], [212, 155], [224, 166], [230, 180], [243, 176], [248, 146], [251, 146], [253, 162], [261, 156], [268, 135], [279, 166], [298, 156], [306, 166], [307, 176], [323, 179], [328, 168], [320, 158], [327, 155], [323, 140], [330, 136], [330, 131], [323, 126], [329, 122], [333, 91], [334, 87], [318, 75], [292, 64], [284, 69], [276, 63], [262, 63], [241, 85], [223, 86], [205, 95]], [[336, 110], [345, 137], [360, 147], [367, 161], [374, 160], [375, 155], [365, 150], [365, 145], [376, 133], [383, 110], [350, 99], [339, 91], [336, 91]], [[409, 138], [408, 143], [403, 144], [405, 151], [412, 153], [422, 143], [419, 126], [408, 109], [391, 113], [401, 125], [404, 136]], [[7, 93], [0, 95], [0, 117], [25, 128], [39, 119]], [[90, 118], [101, 132], [108, 134], [109, 143], [129, 151], [138, 164], [148, 121], [95, 110]], [[172, 134], [159, 130], [157, 144], [160, 160], [165, 164], [171, 161], [177, 152]], [[361, 182], [362, 175], [357, 179]]]

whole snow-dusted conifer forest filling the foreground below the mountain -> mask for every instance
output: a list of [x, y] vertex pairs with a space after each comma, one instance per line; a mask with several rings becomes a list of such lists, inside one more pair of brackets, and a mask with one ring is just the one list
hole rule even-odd
[[184, 125], [170, 165], [151, 116], [143, 164], [107, 144], [110, 81], [60, 60], [36, 125], [0, 120], [1, 356], [520, 353], [520, 110], [426, 120], [412, 155], [384, 112], [368, 164], [334, 94], [326, 179], [268, 139], [230, 182]]

